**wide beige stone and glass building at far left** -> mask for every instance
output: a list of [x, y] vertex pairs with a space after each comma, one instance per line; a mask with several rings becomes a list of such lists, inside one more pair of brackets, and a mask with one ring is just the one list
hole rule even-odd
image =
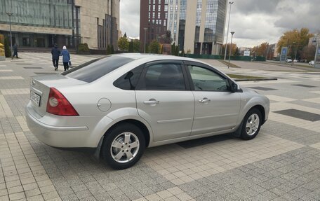
[[[0, 34], [20, 47], [117, 47], [120, 0], [0, 0]], [[12, 13], [11, 18], [7, 13]]]

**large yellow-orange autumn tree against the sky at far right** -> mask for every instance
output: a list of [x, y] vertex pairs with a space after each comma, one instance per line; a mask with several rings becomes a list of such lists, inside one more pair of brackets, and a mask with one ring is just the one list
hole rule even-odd
[[288, 47], [288, 56], [300, 59], [303, 55], [303, 49], [309, 43], [309, 38], [313, 37], [314, 34], [309, 34], [309, 29], [302, 28], [293, 29], [292, 31], [285, 32], [278, 41], [278, 53], [281, 53], [282, 47]]

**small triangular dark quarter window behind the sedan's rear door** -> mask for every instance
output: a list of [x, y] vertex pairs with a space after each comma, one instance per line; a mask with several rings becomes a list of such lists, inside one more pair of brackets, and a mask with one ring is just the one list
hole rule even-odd
[[128, 73], [124, 74], [120, 78], [117, 78], [116, 81], [114, 81], [114, 86], [123, 90], [135, 90], [142, 70], [143, 66], [140, 66], [132, 69], [131, 71], [128, 71]]

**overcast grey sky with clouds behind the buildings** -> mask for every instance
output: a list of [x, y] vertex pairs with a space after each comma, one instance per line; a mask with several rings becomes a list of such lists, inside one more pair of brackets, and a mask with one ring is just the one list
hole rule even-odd
[[[232, 4], [229, 32], [235, 32], [233, 42], [239, 47], [258, 46], [263, 42], [276, 43], [284, 32], [302, 27], [308, 28], [310, 33], [320, 34], [320, 0], [232, 1], [234, 4]], [[227, 20], [228, 16], [229, 4]], [[227, 20], [225, 32], [227, 32]], [[121, 0], [121, 32], [138, 38], [139, 26], [140, 1]], [[228, 37], [228, 41], [230, 40], [231, 34]]]

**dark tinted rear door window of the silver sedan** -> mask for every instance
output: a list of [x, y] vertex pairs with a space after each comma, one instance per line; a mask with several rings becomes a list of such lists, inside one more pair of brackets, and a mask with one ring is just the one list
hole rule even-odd
[[142, 77], [140, 90], [185, 90], [181, 64], [152, 64]]

